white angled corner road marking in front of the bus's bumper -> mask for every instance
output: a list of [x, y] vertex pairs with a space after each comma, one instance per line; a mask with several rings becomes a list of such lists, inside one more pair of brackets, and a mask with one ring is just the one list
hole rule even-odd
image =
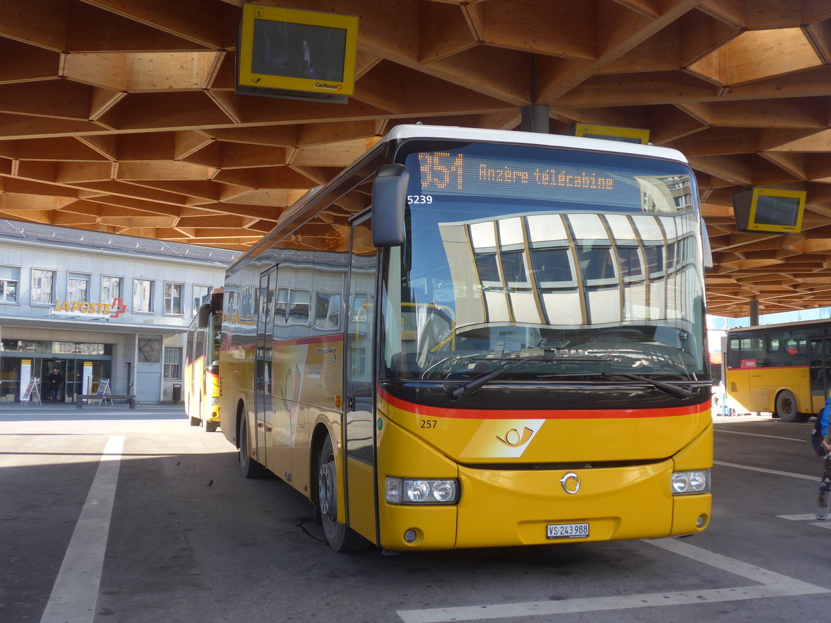
[[706, 591], [685, 591], [669, 593], [648, 593], [643, 595], [588, 597], [565, 601], [526, 601], [514, 604], [493, 604], [481, 606], [459, 606], [453, 608], [431, 608], [429, 610], [398, 611], [405, 623], [443, 623], [444, 621], [481, 621], [518, 616], [556, 615], [571, 612], [613, 611], [624, 608], [647, 608], [652, 606], [680, 606], [684, 604], [713, 603], [716, 601], [743, 601], [765, 597], [795, 595], [816, 595], [831, 590], [808, 582], [783, 576], [774, 571], [755, 567], [708, 552], [677, 539], [645, 541], [667, 552], [673, 552], [710, 565], [736, 576], [759, 582], [756, 586], [716, 588]]

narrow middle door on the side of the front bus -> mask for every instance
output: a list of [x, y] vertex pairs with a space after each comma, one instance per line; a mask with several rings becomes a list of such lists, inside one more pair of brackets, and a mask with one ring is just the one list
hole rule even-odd
[[259, 307], [257, 312], [257, 349], [254, 370], [254, 404], [257, 423], [253, 434], [256, 457], [259, 463], [271, 468], [268, 460], [268, 439], [273, 436], [272, 390], [272, 343], [273, 343], [273, 302], [274, 287], [277, 283], [277, 267], [273, 266], [260, 274]]

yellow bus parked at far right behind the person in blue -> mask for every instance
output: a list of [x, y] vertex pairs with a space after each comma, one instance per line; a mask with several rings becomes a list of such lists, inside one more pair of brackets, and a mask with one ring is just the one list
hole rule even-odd
[[727, 331], [725, 390], [746, 411], [805, 421], [831, 390], [831, 321]]

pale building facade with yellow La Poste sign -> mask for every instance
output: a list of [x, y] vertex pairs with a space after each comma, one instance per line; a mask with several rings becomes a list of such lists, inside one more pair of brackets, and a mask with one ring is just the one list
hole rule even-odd
[[0, 220], [0, 401], [52, 400], [52, 370], [59, 402], [180, 400], [188, 326], [237, 256]]

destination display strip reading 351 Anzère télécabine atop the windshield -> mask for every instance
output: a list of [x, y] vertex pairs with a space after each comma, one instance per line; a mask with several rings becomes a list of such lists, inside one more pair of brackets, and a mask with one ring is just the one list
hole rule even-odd
[[503, 146], [502, 153], [498, 153], [493, 147], [470, 145], [462, 150], [410, 155], [406, 162], [411, 172], [408, 192], [425, 198], [411, 203], [433, 203], [449, 195], [583, 204], [622, 211], [678, 212], [692, 208], [691, 178], [678, 163], [544, 148], [506, 150]]

